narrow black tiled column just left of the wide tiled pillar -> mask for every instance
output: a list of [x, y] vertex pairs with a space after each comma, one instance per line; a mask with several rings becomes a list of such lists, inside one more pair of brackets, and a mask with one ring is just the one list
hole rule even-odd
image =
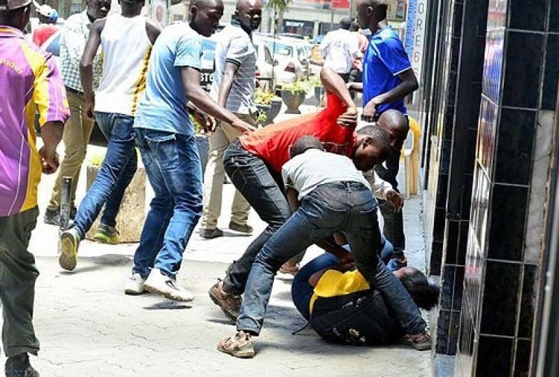
[[444, 139], [451, 144], [442, 150], [442, 154], [448, 154], [443, 160], [449, 162], [447, 171], [440, 171], [437, 190], [444, 200], [441, 205], [445, 217], [444, 241], [439, 246], [442, 248], [442, 293], [435, 351], [445, 355], [455, 355], [458, 344], [488, 0], [455, 0], [454, 3], [453, 19], [461, 17], [461, 22], [454, 22], [450, 47], [450, 71], [451, 77], [456, 77], [453, 91], [456, 94], [444, 112]]

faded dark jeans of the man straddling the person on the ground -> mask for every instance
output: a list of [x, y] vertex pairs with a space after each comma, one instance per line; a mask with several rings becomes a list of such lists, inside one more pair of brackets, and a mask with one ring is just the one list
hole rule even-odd
[[362, 183], [326, 183], [305, 195], [298, 210], [256, 255], [237, 319], [238, 331], [260, 333], [277, 270], [313, 243], [343, 232], [357, 269], [395, 313], [407, 334], [422, 332], [426, 323], [400, 281], [378, 256], [380, 232], [377, 201]]

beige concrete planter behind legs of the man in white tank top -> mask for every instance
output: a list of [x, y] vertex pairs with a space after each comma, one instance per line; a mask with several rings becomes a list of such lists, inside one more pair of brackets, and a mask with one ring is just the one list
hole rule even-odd
[[[86, 187], [94, 183], [94, 180], [101, 166], [89, 164], [86, 171]], [[103, 206], [103, 211], [104, 211]], [[93, 240], [93, 236], [99, 227], [99, 221], [103, 211], [99, 213], [93, 226], [89, 232], [85, 234], [85, 238]], [[120, 243], [139, 242], [140, 234], [145, 222], [145, 169], [143, 165], [138, 166], [138, 170], [132, 178], [130, 185], [124, 192], [120, 210], [117, 215], [117, 230], [119, 232]]]

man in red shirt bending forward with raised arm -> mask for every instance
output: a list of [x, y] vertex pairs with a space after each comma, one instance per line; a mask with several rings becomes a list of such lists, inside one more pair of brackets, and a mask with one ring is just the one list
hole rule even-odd
[[368, 171], [386, 159], [385, 151], [372, 143], [371, 136], [355, 133], [358, 112], [344, 80], [331, 69], [323, 69], [320, 76], [328, 104], [323, 111], [242, 135], [224, 154], [227, 175], [260, 218], [268, 223], [245, 254], [229, 266], [224, 280], [210, 288], [212, 300], [231, 318], [238, 316], [240, 294], [245, 290], [254, 258], [291, 215], [281, 178], [291, 145], [303, 135], [314, 136], [327, 152], [347, 155], [361, 171]]

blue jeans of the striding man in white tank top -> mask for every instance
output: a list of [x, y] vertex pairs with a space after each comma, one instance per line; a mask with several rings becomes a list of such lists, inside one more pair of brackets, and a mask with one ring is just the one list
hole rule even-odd
[[110, 227], [116, 225], [115, 218], [124, 191], [138, 168], [132, 128], [134, 118], [129, 115], [100, 111], [95, 112], [95, 117], [99, 128], [108, 140], [108, 146], [101, 169], [80, 203], [72, 225], [78, 230], [81, 239], [92, 227], [103, 204], [105, 204], [105, 211], [101, 217], [101, 224]]

